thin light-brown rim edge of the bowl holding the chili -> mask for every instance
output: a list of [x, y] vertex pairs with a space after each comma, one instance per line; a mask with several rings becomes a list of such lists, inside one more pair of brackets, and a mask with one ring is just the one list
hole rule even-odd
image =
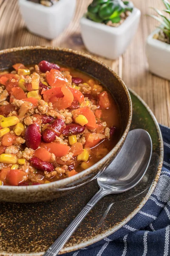
[[[34, 49], [50, 49], [50, 50], [54, 50], [54, 51], [59, 50], [59, 51], [63, 51], [63, 52], [71, 52], [71, 53], [74, 53], [75, 55], [80, 55], [82, 57], [88, 58], [88, 59], [96, 62], [97, 64], [102, 65], [107, 70], [109, 70], [113, 74], [113, 76], [116, 77], [116, 79], [119, 81], [119, 83], [122, 85], [122, 87], [124, 88], [124, 91], [126, 93], [128, 104], [129, 104], [128, 122], [127, 122], [127, 125], [125, 128], [125, 131], [122, 134], [122, 137], [119, 139], [118, 143], [114, 146], [114, 148], [105, 157], [103, 157], [101, 160], [99, 160], [93, 166], [89, 167], [88, 169], [85, 169], [82, 172], [79, 172], [77, 175], [67, 177], [62, 180], [57, 180], [57, 181], [54, 181], [51, 183], [43, 184], [43, 187], [42, 187], [42, 185], [37, 185], [37, 186], [33, 186], [33, 185], [32, 186], [0, 186], [0, 191], [1, 190], [11, 191], [11, 189], [12, 189], [13, 191], [17, 190], [17, 191], [28, 191], [28, 192], [35, 191], [36, 192], [39, 189], [45, 189], [45, 188], [60, 189], [63, 186], [67, 185], [68, 183], [72, 183], [76, 180], [83, 178], [84, 175], [85, 176], [90, 175], [93, 168], [96, 168], [98, 165], [105, 165], [105, 162], [108, 161], [110, 159], [110, 157], [112, 157], [116, 153], [117, 149], [119, 149], [122, 146], [122, 144], [124, 143], [124, 141], [127, 137], [128, 131], [130, 129], [131, 121], [132, 121], [132, 112], [133, 112], [132, 111], [132, 101], [131, 101], [130, 93], [126, 87], [126, 84], [120, 78], [120, 76], [118, 76], [118, 74], [116, 74], [111, 69], [111, 67], [109, 67], [107, 64], [103, 63], [102, 61], [99, 61], [97, 58], [92, 57], [91, 55], [86, 54], [84, 52], [77, 51], [77, 50], [69, 49], [69, 48], [48, 47], [48, 46], [24, 46], [24, 47], [14, 47], [14, 48], [2, 49], [2, 50], [0, 50], [0, 55], [2, 55], [4, 53], [9, 53], [9, 52], [17, 52], [17, 51], [22, 51], [22, 50], [34, 50]], [[98, 173], [96, 174], [95, 177], [97, 177], [97, 175], [98, 175]], [[87, 182], [85, 182], [85, 183], [87, 183]], [[85, 183], [83, 183], [83, 185], [85, 185]], [[74, 188], [74, 187], [72, 187], [72, 188]]]

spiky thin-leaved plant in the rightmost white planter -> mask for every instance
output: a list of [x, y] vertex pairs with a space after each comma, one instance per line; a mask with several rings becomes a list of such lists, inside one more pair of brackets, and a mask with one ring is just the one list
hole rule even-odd
[[[169, 16], [170, 2], [168, 0], [161, 0], [161, 1], [164, 3], [164, 6], [166, 8], [163, 10], [163, 12], [167, 13]], [[170, 44], [170, 18], [165, 16], [165, 14], [159, 11], [158, 9], [156, 8], [152, 8], [152, 9], [154, 9], [160, 17], [157, 17], [156, 15], [148, 15], [148, 16], [153, 17], [154, 19], [158, 20], [161, 23], [159, 26], [159, 29], [160, 29], [159, 32], [156, 33], [153, 36], [153, 38], [163, 41], [167, 44]]]

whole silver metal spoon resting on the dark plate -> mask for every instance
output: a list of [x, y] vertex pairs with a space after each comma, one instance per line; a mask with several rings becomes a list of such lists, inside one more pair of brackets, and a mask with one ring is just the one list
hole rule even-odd
[[147, 131], [142, 129], [130, 131], [117, 157], [97, 178], [99, 191], [43, 256], [57, 256], [88, 212], [102, 197], [125, 192], [136, 186], [147, 171], [151, 155], [152, 140]]

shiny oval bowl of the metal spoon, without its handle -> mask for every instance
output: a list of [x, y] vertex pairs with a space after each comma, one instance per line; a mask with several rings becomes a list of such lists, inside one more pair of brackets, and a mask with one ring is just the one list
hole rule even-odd
[[110, 193], [125, 192], [133, 188], [147, 171], [151, 156], [152, 140], [147, 131], [130, 131], [117, 157], [97, 178], [98, 185]]

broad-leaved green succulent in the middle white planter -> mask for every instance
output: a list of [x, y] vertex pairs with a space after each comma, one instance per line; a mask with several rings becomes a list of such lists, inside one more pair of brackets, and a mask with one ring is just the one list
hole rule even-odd
[[133, 10], [133, 3], [122, 0], [93, 0], [88, 6], [87, 17], [95, 22], [118, 23], [121, 20], [121, 13]]

